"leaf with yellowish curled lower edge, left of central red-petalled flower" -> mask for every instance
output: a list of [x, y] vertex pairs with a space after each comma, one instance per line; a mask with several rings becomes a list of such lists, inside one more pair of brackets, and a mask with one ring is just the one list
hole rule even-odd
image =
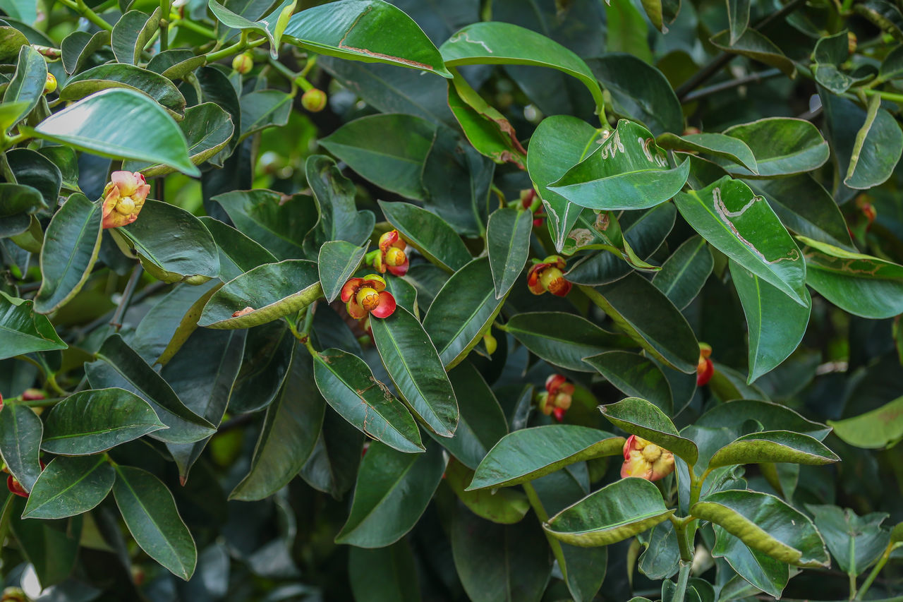
[[[230, 280], [204, 306], [198, 325], [249, 328], [297, 314], [322, 296], [317, 265], [306, 259], [269, 263]], [[245, 307], [254, 311], [234, 315]]]

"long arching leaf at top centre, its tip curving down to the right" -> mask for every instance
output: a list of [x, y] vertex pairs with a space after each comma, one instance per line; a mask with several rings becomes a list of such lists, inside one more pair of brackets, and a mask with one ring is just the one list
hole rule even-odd
[[477, 64], [550, 67], [581, 80], [596, 102], [605, 106], [596, 76], [582, 59], [541, 33], [514, 24], [475, 23], [454, 33], [439, 49], [448, 67]]

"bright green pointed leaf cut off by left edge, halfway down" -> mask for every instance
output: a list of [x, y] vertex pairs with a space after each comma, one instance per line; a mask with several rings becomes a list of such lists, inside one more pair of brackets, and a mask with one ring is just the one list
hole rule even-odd
[[68, 346], [46, 315], [34, 313], [32, 301], [0, 293], [0, 359]]

